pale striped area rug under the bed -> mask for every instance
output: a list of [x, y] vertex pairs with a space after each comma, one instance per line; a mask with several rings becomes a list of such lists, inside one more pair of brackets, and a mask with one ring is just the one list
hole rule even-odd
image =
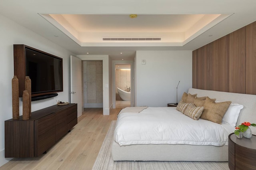
[[113, 161], [111, 144], [115, 123], [111, 122], [93, 170], [229, 170], [228, 162]]

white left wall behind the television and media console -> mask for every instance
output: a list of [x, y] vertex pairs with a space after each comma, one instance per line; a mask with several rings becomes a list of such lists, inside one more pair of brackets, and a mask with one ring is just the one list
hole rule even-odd
[[[0, 166], [10, 160], [4, 158], [4, 121], [12, 119], [13, 44], [25, 44], [63, 58], [64, 91], [50, 99], [32, 101], [32, 111], [55, 105], [56, 100], [70, 102], [70, 55], [73, 54], [0, 15]], [[22, 115], [22, 98], [20, 98], [20, 115]]]

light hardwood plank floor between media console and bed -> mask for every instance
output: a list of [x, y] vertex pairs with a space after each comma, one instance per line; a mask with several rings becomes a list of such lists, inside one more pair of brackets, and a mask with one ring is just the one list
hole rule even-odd
[[14, 158], [0, 170], [91, 170], [112, 120], [120, 109], [102, 115], [102, 108], [87, 108], [78, 124], [38, 158]]

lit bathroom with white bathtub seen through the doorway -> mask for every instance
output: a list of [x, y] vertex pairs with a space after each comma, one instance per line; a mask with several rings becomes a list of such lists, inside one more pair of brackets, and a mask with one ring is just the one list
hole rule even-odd
[[[116, 108], [130, 107], [131, 65], [116, 64], [115, 67]], [[119, 90], [118, 93], [118, 88]]]

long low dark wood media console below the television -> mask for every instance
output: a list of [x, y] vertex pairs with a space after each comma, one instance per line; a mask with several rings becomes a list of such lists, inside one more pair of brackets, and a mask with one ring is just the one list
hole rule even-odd
[[38, 157], [77, 124], [77, 104], [54, 105], [31, 114], [28, 121], [4, 122], [5, 157]]

